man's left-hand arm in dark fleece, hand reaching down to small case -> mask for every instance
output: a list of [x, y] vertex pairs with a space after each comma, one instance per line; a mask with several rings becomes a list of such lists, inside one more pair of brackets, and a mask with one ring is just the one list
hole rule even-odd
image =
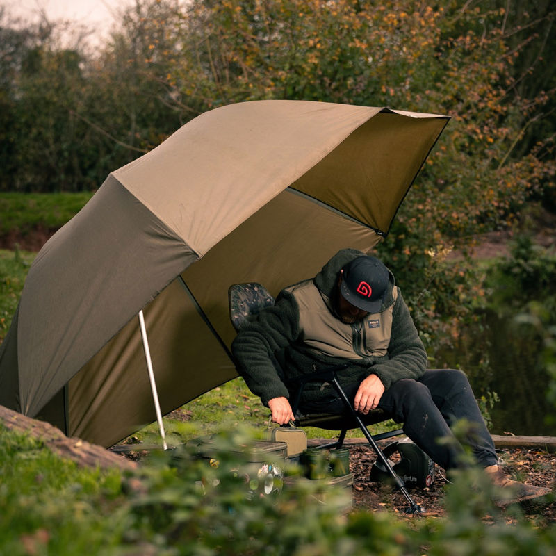
[[253, 322], [241, 329], [231, 345], [238, 373], [250, 391], [270, 407], [272, 420], [280, 424], [288, 423], [293, 415], [288, 389], [279, 376], [275, 352], [293, 343], [297, 336], [297, 303], [293, 295], [283, 292], [274, 306], [263, 309]]

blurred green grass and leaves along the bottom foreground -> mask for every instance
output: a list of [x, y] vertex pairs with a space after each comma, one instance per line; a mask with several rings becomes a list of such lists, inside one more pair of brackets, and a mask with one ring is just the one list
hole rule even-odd
[[0, 551], [14, 556], [553, 553], [555, 530], [535, 528], [519, 512], [509, 525], [507, 514], [489, 502], [491, 487], [473, 473], [446, 493], [446, 518], [407, 521], [388, 512], [349, 512], [345, 491], [322, 491], [316, 481], [297, 481], [277, 496], [260, 496], [253, 480], [245, 482], [245, 462], [237, 456], [238, 445], [249, 443], [245, 431], [221, 433], [215, 443], [218, 465], [182, 446], [152, 454], [136, 473], [101, 473], [78, 469], [40, 441], [1, 428]]

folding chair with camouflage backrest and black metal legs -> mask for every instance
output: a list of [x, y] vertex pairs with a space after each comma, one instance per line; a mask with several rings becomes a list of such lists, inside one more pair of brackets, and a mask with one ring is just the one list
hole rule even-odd
[[[230, 286], [228, 291], [229, 296], [229, 309], [231, 323], [237, 332], [245, 325], [246, 322], [252, 320], [261, 309], [274, 304], [275, 299], [268, 293], [267, 289], [261, 284], [256, 282], [247, 282], [245, 284], [234, 284]], [[275, 360], [275, 365], [278, 366]], [[391, 462], [384, 455], [382, 450], [377, 445], [377, 441], [382, 439], [388, 439], [392, 436], [398, 436], [403, 433], [402, 429], [397, 429], [389, 432], [383, 432], [380, 434], [371, 434], [368, 430], [368, 426], [375, 425], [377, 423], [382, 423], [385, 420], [389, 420], [382, 409], [375, 409], [368, 413], [368, 415], [358, 414], [350, 400], [347, 399], [345, 392], [343, 391], [340, 383], [338, 382], [337, 373], [342, 369], [346, 368], [347, 365], [338, 365], [323, 370], [318, 370], [315, 373], [310, 373], [302, 377], [302, 379], [296, 380], [295, 383], [287, 383], [289, 391], [293, 391], [293, 397], [291, 398], [291, 407], [293, 414], [295, 416], [294, 425], [296, 427], [318, 427], [325, 430], [339, 430], [340, 435], [337, 441], [331, 443], [325, 443], [320, 445], [322, 449], [338, 449], [343, 445], [345, 435], [347, 430], [359, 428], [363, 435], [367, 439], [368, 443], [371, 445], [373, 450], [377, 455], [377, 459], [382, 462], [384, 468], [393, 478], [395, 488], [400, 490], [404, 498], [409, 502], [409, 507], [406, 509], [407, 513], [414, 514], [416, 512], [423, 512], [423, 507], [420, 507], [414, 502], [413, 498], [409, 495], [404, 482], [394, 471]], [[283, 374], [283, 373], [282, 373]], [[345, 414], [301, 414], [299, 411], [299, 405], [302, 397], [302, 392], [305, 384], [308, 382], [329, 382], [338, 396], [343, 401], [345, 406]]]

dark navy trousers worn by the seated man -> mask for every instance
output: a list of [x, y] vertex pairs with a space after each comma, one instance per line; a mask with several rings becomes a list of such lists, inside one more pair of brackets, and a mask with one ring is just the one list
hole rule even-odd
[[[358, 388], [358, 384], [345, 388], [347, 398], [354, 400]], [[304, 410], [324, 409], [318, 405]], [[471, 385], [460, 370], [431, 369], [419, 379], [398, 380], [384, 391], [378, 407], [397, 423], [404, 423], [404, 433], [445, 469], [461, 466], [463, 446], [451, 427], [462, 419], [468, 426], [462, 443], [471, 448], [477, 464], [486, 467], [498, 461]], [[345, 412], [340, 398], [329, 399], [326, 409]]]

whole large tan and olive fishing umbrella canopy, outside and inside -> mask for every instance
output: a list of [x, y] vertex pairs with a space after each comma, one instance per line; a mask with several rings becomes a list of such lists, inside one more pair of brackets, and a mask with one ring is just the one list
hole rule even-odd
[[227, 291], [271, 293], [388, 233], [448, 118], [253, 101], [111, 173], [38, 253], [0, 346], [0, 404], [109, 446], [236, 376]]

